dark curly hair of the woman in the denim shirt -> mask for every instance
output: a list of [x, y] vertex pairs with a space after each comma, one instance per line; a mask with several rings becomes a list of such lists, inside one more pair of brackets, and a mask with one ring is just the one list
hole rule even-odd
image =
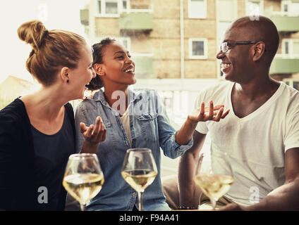
[[[92, 45], [92, 58], [93, 63], [92, 66], [94, 66], [95, 63], [104, 63], [103, 62], [103, 52], [107, 45], [113, 44], [116, 42], [116, 39], [111, 39], [110, 37], [106, 37], [105, 39], [102, 39], [102, 41], [99, 41], [99, 43]], [[86, 85], [87, 89], [90, 91], [99, 90], [103, 87], [102, 79], [99, 77], [99, 75], [92, 78], [90, 81], [90, 84]]]

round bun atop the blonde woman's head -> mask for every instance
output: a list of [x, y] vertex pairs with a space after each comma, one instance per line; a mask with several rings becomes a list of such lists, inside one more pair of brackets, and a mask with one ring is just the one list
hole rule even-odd
[[48, 30], [39, 20], [28, 21], [18, 27], [18, 37], [30, 44], [35, 51], [41, 46], [42, 40], [47, 34]]

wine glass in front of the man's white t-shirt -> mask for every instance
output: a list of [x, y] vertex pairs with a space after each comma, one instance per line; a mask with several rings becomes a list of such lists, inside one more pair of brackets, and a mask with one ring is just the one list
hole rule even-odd
[[233, 170], [227, 153], [215, 153], [213, 160], [207, 153], [200, 153], [195, 167], [194, 181], [202, 192], [209, 197], [215, 210], [216, 202], [233, 185]]

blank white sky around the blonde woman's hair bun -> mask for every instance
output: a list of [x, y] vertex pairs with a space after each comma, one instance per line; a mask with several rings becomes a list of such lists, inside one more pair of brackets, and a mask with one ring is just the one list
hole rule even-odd
[[69, 30], [85, 36], [80, 8], [88, 0], [1, 0], [0, 83], [13, 75], [33, 81], [25, 69], [31, 46], [18, 38], [18, 27], [29, 20], [41, 20], [47, 30]]

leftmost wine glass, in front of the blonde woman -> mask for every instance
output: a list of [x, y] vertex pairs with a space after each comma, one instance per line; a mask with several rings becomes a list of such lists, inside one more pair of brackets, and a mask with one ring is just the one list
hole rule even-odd
[[81, 210], [85, 211], [86, 204], [101, 191], [104, 184], [104, 175], [97, 155], [70, 155], [62, 184], [66, 191], [78, 200]]

